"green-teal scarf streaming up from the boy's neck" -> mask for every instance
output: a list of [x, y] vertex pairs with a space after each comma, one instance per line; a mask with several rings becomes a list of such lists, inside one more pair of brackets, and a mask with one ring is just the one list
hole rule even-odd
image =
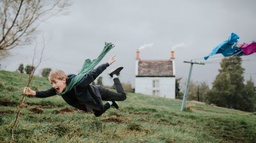
[[78, 82], [80, 82], [87, 73], [92, 72], [93, 68], [101, 61], [101, 59], [109, 52], [109, 50], [113, 49], [113, 47], [115, 47], [113, 43], [105, 43], [105, 47], [100, 53], [99, 57], [97, 57], [97, 59], [93, 59], [93, 61], [91, 61], [90, 59], [86, 59], [80, 72], [77, 73], [76, 77], [74, 77], [70, 82], [68, 82], [65, 91], [56, 94], [63, 95], [70, 91], [72, 87], [74, 87]]

